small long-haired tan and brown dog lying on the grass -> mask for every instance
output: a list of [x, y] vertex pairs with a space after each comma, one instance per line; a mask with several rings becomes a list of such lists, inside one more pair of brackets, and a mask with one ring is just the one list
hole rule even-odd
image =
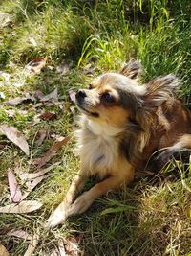
[[[156, 151], [157, 166], [176, 151], [191, 148], [191, 116], [176, 97], [178, 79], [170, 74], [139, 85], [140, 73], [139, 62], [130, 62], [119, 73], [103, 74], [76, 93], [82, 113], [76, 132], [80, 171], [49, 218], [50, 228], [132, 182]], [[90, 175], [101, 181], [76, 198]]]

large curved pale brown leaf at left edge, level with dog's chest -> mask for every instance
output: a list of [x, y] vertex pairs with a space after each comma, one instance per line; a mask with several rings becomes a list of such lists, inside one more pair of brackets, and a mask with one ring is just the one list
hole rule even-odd
[[29, 145], [24, 135], [18, 131], [17, 128], [9, 127], [7, 125], [0, 126], [0, 134], [5, 135], [12, 143], [18, 146], [27, 155], [30, 154]]

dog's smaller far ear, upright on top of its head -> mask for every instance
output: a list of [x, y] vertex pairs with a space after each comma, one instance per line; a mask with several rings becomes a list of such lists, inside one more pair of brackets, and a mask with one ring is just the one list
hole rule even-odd
[[142, 72], [141, 64], [138, 61], [130, 61], [121, 68], [119, 73], [130, 79], [138, 79], [139, 74]]

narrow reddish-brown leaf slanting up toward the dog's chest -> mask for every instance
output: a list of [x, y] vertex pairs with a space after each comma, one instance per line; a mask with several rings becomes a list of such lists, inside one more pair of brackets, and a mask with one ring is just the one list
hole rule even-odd
[[42, 166], [44, 166], [47, 162], [49, 162], [51, 160], [53, 155], [55, 155], [56, 152], [61, 149], [62, 146], [66, 145], [68, 143], [68, 141], [70, 139], [71, 139], [71, 137], [67, 136], [63, 140], [56, 142], [52, 146], [52, 148], [45, 153], [45, 155], [42, 158], [33, 159], [34, 164], [37, 165], [38, 168], [41, 168]]

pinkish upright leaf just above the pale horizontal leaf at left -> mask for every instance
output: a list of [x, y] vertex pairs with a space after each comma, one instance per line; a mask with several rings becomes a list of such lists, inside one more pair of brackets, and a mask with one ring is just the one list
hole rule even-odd
[[22, 193], [20, 190], [20, 186], [18, 185], [16, 178], [14, 174], [11, 172], [11, 170], [8, 171], [8, 181], [11, 194], [11, 201], [19, 202], [22, 199]]

